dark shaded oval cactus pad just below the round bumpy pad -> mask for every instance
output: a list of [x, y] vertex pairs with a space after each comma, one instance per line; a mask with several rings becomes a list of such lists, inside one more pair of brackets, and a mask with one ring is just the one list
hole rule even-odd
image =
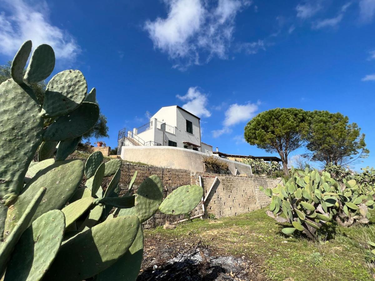
[[43, 141], [67, 141], [87, 133], [99, 118], [96, 103], [83, 102], [69, 114], [58, 117], [43, 133]]

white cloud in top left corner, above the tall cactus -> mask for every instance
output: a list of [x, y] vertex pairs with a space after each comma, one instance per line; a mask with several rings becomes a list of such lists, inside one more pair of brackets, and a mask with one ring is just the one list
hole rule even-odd
[[[3, 0], [0, 7], [0, 52], [14, 55], [26, 40], [33, 46], [46, 43], [55, 51], [56, 58], [74, 60], [80, 46], [66, 30], [52, 25], [48, 19], [45, 1], [38, 5], [27, 4], [23, 0]], [[37, 8], [38, 7], [38, 8]], [[7, 12], [5, 12], [5, 10]]]

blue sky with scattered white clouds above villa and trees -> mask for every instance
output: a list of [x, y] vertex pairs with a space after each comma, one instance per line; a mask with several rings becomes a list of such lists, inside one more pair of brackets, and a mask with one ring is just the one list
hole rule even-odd
[[202, 141], [269, 155], [244, 126], [296, 107], [347, 115], [370, 149], [356, 169], [375, 166], [375, 0], [118, 2], [0, 1], [0, 63], [24, 40], [50, 44], [52, 75], [79, 69], [96, 87], [112, 147], [146, 111], [180, 105], [201, 117]]

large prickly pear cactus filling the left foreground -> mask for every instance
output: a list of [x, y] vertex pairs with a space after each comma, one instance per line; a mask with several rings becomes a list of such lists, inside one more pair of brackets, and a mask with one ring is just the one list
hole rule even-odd
[[[119, 196], [121, 160], [102, 163], [101, 152], [86, 165], [66, 160], [98, 121], [96, 90], [87, 94], [83, 74], [65, 70], [49, 81], [40, 106], [29, 83], [51, 75], [55, 57], [50, 46], [38, 46], [23, 76], [30, 52], [27, 41], [12, 62], [12, 79], [0, 85], [0, 276], [135, 280], [143, 253], [140, 224], [158, 209], [190, 212], [202, 188], [177, 188], [163, 202], [162, 181], [153, 175], [131, 195], [135, 173]], [[45, 118], [53, 118], [47, 128]], [[31, 163], [38, 147], [39, 162]], [[112, 177], [107, 188], [106, 177]]]

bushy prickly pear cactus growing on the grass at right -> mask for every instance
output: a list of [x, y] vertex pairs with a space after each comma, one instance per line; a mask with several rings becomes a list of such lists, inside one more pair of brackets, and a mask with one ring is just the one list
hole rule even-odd
[[374, 209], [374, 191], [364, 193], [354, 179], [341, 186], [325, 171], [320, 175], [318, 170], [296, 173], [293, 169], [291, 178], [283, 180], [283, 185], [260, 189], [272, 199], [267, 211], [269, 217], [293, 225], [284, 228], [283, 233], [298, 230], [311, 239], [328, 221], [344, 227], [367, 224], [371, 217], [368, 210]]

